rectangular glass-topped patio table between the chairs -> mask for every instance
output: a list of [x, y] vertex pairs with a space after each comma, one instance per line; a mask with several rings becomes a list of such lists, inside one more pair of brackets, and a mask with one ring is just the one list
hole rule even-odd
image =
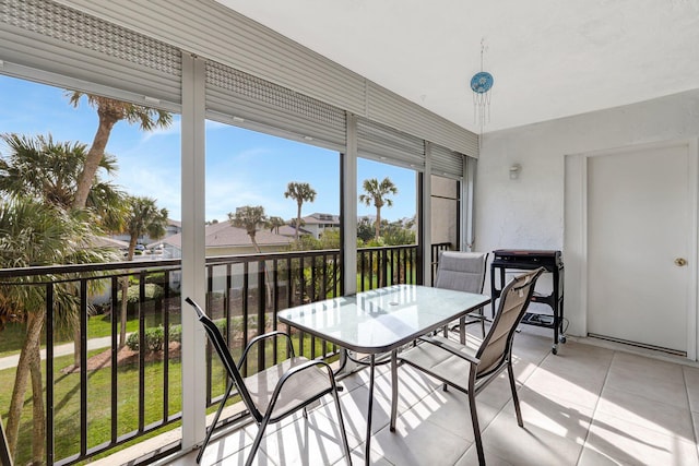
[[368, 355], [369, 403], [365, 461], [369, 463], [376, 356], [465, 316], [490, 297], [419, 285], [393, 285], [281, 311], [280, 322]]

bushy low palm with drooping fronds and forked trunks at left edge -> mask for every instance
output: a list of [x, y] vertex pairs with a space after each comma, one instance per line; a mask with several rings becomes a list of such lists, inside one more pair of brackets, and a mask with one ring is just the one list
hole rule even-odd
[[[63, 210], [25, 196], [11, 196], [0, 204], [0, 267], [107, 262], [114, 252], [85, 248], [95, 235], [90, 211]], [[29, 374], [34, 405], [33, 464], [43, 464], [46, 421], [43, 402], [39, 345], [46, 321], [45, 277], [23, 277], [0, 285], [0, 314], [26, 324], [26, 337], [20, 353], [14, 387], [8, 413], [8, 443], [14, 454], [20, 417]], [[74, 285], [55, 285], [52, 318], [70, 325], [80, 309]], [[4, 320], [4, 319], [3, 319]]]

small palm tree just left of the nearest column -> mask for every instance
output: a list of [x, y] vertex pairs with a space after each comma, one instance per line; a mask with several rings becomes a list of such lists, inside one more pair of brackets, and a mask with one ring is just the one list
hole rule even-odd
[[[152, 239], [165, 236], [167, 229], [167, 208], [157, 208], [155, 200], [145, 196], [128, 196], [125, 232], [129, 235], [129, 250], [127, 260], [133, 260], [133, 251], [139, 238], [145, 234]], [[129, 292], [129, 277], [123, 278], [121, 288], [121, 327], [119, 332], [119, 348], [127, 343], [127, 296]]]

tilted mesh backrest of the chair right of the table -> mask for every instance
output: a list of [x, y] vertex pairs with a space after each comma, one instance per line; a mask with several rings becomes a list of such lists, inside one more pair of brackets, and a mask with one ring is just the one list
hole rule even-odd
[[512, 348], [512, 337], [517, 325], [524, 316], [534, 292], [536, 279], [543, 267], [518, 275], [502, 288], [498, 311], [495, 314], [488, 334], [476, 353], [481, 360], [476, 378], [487, 375], [499, 368]]

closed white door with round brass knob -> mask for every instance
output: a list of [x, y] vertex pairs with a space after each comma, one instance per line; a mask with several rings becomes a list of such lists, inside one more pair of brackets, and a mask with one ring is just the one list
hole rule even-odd
[[590, 334], [694, 350], [695, 158], [688, 144], [588, 158]]

